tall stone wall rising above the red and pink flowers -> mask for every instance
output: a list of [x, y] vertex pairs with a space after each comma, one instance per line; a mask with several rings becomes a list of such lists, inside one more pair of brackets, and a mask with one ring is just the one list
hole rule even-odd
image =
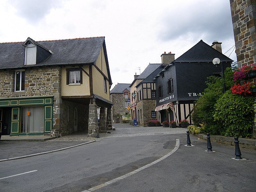
[[230, 0], [238, 67], [256, 62], [256, 2]]

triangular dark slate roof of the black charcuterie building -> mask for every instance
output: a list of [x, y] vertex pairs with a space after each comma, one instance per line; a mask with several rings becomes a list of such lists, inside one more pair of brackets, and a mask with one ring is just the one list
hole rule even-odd
[[[213, 54], [214, 53], [214, 54]], [[200, 40], [187, 52], [178, 57], [175, 62], [212, 62], [214, 58], [218, 57], [221, 61], [233, 62], [226, 55], [212, 48], [210, 45]]]

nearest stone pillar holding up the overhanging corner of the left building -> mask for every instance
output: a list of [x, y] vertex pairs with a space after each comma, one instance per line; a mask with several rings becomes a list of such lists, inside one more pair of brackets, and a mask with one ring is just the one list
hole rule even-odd
[[94, 98], [89, 104], [88, 135], [89, 137], [99, 136], [97, 105]]

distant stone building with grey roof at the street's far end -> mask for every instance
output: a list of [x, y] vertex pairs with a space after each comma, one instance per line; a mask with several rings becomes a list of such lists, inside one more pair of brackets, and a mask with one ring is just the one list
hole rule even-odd
[[110, 101], [112, 106], [113, 123], [122, 123], [122, 115], [130, 114], [129, 106], [130, 99], [130, 84], [117, 83], [110, 91]]

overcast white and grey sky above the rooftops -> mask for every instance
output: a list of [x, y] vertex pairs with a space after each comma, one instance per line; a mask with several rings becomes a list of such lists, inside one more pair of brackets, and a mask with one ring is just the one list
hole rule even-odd
[[0, 10], [1, 43], [105, 36], [111, 89], [201, 39], [236, 61], [229, 0], [1, 0]]

